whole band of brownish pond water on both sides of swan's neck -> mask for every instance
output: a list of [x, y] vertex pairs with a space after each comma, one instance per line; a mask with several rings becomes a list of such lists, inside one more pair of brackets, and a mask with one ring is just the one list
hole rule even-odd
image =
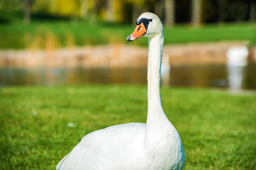
[[[0, 86], [145, 84], [147, 68], [0, 68]], [[220, 87], [256, 89], [256, 63], [245, 66], [226, 64], [171, 66], [162, 74], [162, 85], [176, 87]]]

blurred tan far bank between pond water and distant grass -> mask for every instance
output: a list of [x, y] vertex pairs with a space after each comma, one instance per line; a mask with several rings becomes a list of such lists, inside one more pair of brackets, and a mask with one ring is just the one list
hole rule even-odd
[[[170, 65], [226, 63], [230, 47], [247, 46], [248, 41], [220, 41], [165, 45], [163, 63]], [[67, 47], [46, 50], [0, 50], [0, 67], [129, 68], [147, 65], [148, 48], [136, 45]], [[249, 59], [256, 61], [256, 50]]]

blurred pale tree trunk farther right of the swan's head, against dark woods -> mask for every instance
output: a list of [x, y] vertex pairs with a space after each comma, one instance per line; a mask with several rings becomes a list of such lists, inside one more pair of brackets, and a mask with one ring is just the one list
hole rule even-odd
[[198, 26], [201, 23], [202, 0], [192, 0], [191, 22], [193, 26]]

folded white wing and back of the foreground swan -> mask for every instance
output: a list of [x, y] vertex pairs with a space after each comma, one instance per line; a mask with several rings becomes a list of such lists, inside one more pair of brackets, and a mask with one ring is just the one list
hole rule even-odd
[[146, 124], [127, 123], [89, 133], [58, 163], [56, 169], [132, 169], [131, 165], [138, 166], [139, 161], [144, 160], [141, 158], [145, 156], [142, 150], [145, 132]]

